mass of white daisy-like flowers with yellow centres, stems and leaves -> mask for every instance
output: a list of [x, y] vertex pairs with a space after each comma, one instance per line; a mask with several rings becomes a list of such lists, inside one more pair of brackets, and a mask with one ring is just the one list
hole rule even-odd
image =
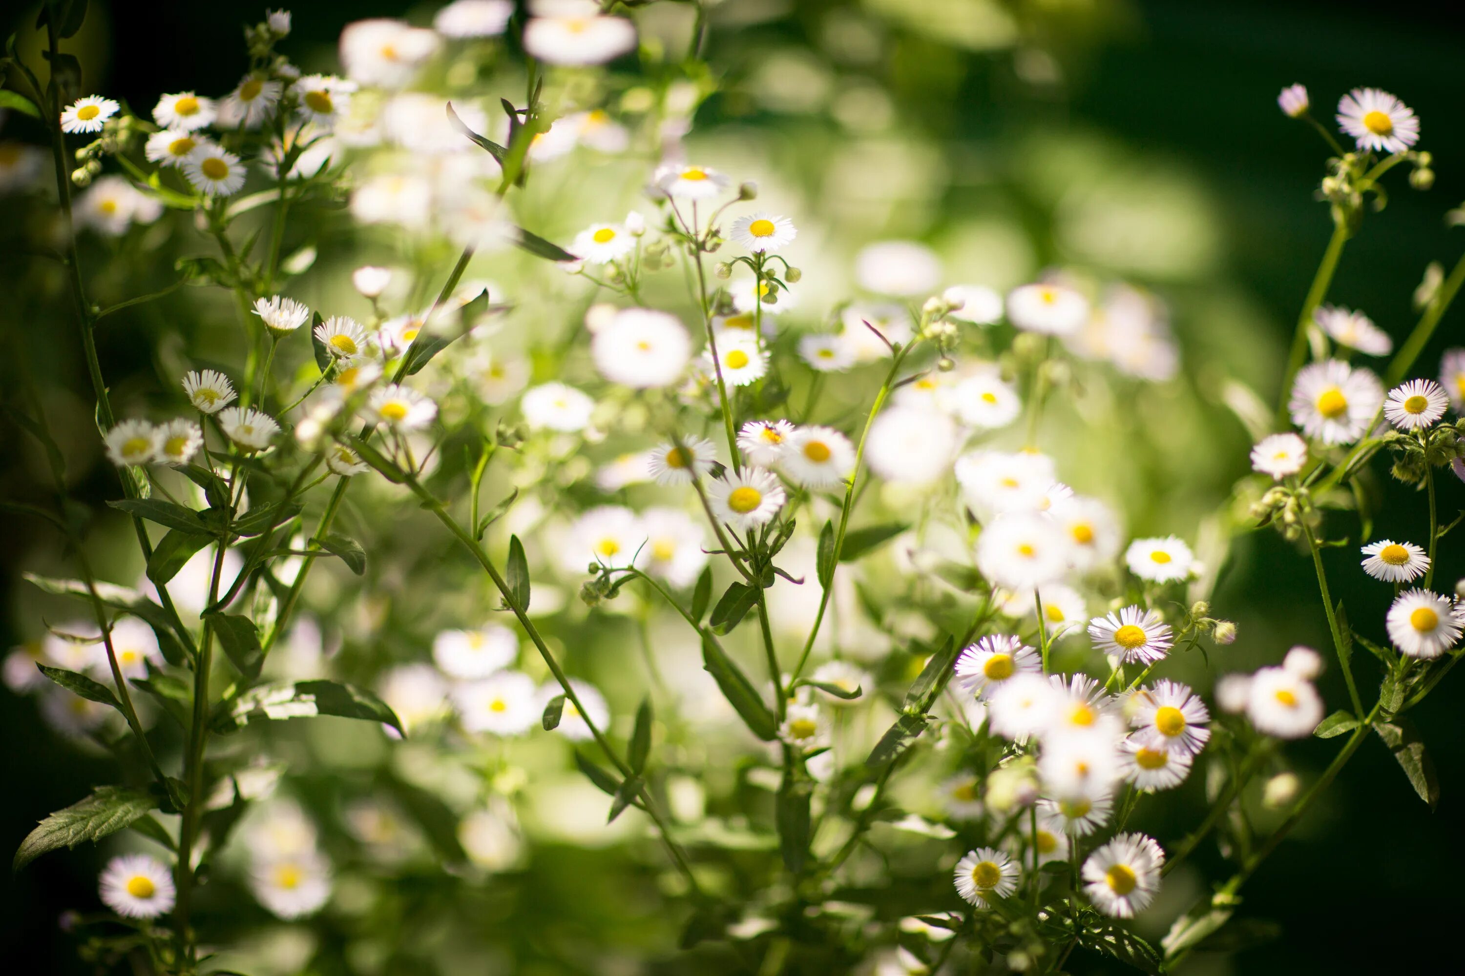
[[[4, 505], [66, 543], [66, 572], [28, 581], [79, 610], [6, 680], [119, 781], [47, 817], [15, 866], [126, 838], [108, 912], [73, 919], [88, 958], [403, 966], [413, 935], [374, 925], [432, 909], [442, 938], [481, 936], [464, 906], [548, 884], [530, 865], [570, 840], [623, 849], [609, 884], [656, 906], [665, 932], [634, 951], [709, 972], [1099, 954], [1157, 973], [1244, 929], [1241, 887], [1370, 733], [1433, 803], [1406, 713], [1465, 628], [1434, 585], [1453, 528], [1437, 492], [1465, 478], [1446, 418], [1465, 350], [1439, 382], [1408, 378], [1465, 262], [1421, 287], [1398, 353], [1323, 304], [1384, 176], [1433, 179], [1415, 114], [1354, 91], [1345, 149], [1305, 89], [1282, 92], [1335, 154], [1335, 234], [1279, 407], [1222, 383], [1253, 471], [1198, 531], [1160, 534], [1179, 509], [1121, 506], [1125, 473], [1094, 477], [1080, 442], [1146, 440], [1134, 401], [1187, 386], [1162, 301], [1081, 266], [1006, 294], [943, 287], [936, 255], [900, 240], [860, 250], [863, 297], [806, 279], [817, 221], [753, 206], [765, 190], [735, 158], [689, 155], [718, 91], [705, 7], [675, 59], [639, 32], [643, 6], [359, 20], [341, 75], [297, 67], [271, 12], [230, 94], [145, 114], [79, 88], [62, 51], [79, 0], [44, 7], [45, 83], [10, 53], [23, 85], [4, 104], [50, 148], [7, 149], [23, 179], [6, 186], [54, 170], [54, 205], [32, 205], [60, 222], [116, 473], [116, 517], [73, 499], [42, 398], [18, 388], [53, 493]], [[592, 168], [609, 176], [574, 199]], [[564, 209], [579, 230], [561, 237]], [[108, 262], [164, 239], [190, 252], [171, 282], [97, 303], [119, 287]], [[158, 335], [167, 383], [108, 386], [103, 323], [185, 285], [227, 297], [236, 325]], [[1387, 357], [1381, 378], [1362, 356]], [[1384, 458], [1423, 490], [1423, 544], [1376, 538]], [[113, 518], [136, 585], [95, 559]], [[1323, 553], [1354, 525], [1361, 569], [1393, 584], [1377, 619], [1329, 588]], [[1333, 647], [1242, 673], [1214, 588], [1231, 538], [1264, 527], [1311, 560]], [[1324, 658], [1348, 692], [1332, 711]], [[1307, 736], [1346, 739], [1302, 789], [1285, 743]], [[1201, 770], [1206, 812], [1150, 828]], [[1213, 838], [1225, 878], [1144, 938], [1131, 920]], [[303, 951], [251, 948], [253, 931], [284, 944], [270, 919]], [[533, 942], [554, 925], [526, 919], [526, 942], [495, 931], [494, 951], [551, 953]]]

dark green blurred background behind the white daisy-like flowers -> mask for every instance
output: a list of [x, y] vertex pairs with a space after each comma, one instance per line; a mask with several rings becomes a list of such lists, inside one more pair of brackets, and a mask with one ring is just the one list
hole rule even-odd
[[[1273, 100], [1283, 85], [1305, 83], [1324, 119], [1348, 88], [1392, 91], [1418, 111], [1421, 148], [1436, 157], [1439, 180], [1428, 193], [1408, 190], [1403, 173], [1396, 173], [1387, 209], [1370, 215], [1349, 243], [1330, 300], [1364, 309], [1399, 341], [1412, 323], [1411, 294], [1425, 265], [1449, 265], [1465, 246], [1443, 221], [1465, 196], [1465, 132], [1453, 124], [1465, 56], [1465, 18], [1458, 12], [1433, 4], [1396, 3], [1381, 10], [1361, 1], [1280, 0], [727, 0], [721, 6], [711, 51], [731, 85], [705, 107], [699, 129], [716, 135], [721, 127], [753, 127], [776, 146], [801, 127], [831, 126], [826, 108], [832, 105], [829, 114], [837, 119], [841, 111], [835, 89], [851, 76], [867, 79], [888, 95], [876, 108], [894, 113], [904, 133], [919, 136], [932, 154], [923, 157], [924, 165], [936, 174], [919, 206], [888, 215], [892, 236], [939, 239], [963, 221], [996, 215], [1002, 227], [1021, 231], [1015, 240], [1031, 253], [1004, 258], [987, 239], [973, 247], [984, 260], [1001, 265], [1006, 259], [1031, 271], [1099, 250], [1115, 272], [1150, 285], [1171, 303], [1187, 375], [1203, 389], [1214, 379], [1207, 367], [1226, 361], [1256, 382], [1264, 398], [1275, 398], [1279, 357], [1330, 231], [1324, 206], [1313, 199], [1326, 151], [1311, 132], [1276, 110]], [[18, 25], [34, 16], [7, 7], [19, 13]], [[258, 4], [237, 0], [92, 7], [94, 20], [78, 51], [86, 88], [126, 98], [139, 110], [158, 92], [229, 89], [245, 67], [239, 29], [261, 13]], [[344, 22], [422, 12], [401, 3], [312, 0], [294, 9], [289, 50], [302, 64], [328, 69]], [[878, 25], [879, 44], [841, 64], [835, 53], [860, 45], [850, 23]], [[790, 60], [790, 53], [800, 56]], [[769, 61], [774, 56], [784, 60]], [[797, 104], [787, 86], [760, 82], [769, 63], [809, 72], [809, 85], [794, 86], [794, 94], [819, 89], [832, 64], [841, 82], [822, 101], [816, 95], [817, 104]], [[858, 102], [845, 111], [857, 116]], [[0, 135], [10, 136], [12, 129]], [[10, 234], [0, 230], [0, 247], [7, 240]], [[1001, 279], [1004, 272], [951, 266], [948, 274], [952, 281], [982, 281]], [[1456, 309], [1444, 319], [1421, 359], [1421, 375], [1433, 375], [1443, 347], [1465, 342], [1462, 316], [1465, 310]], [[85, 389], [70, 332], [28, 331], [15, 309], [0, 313], [0, 326], [19, 331], [31, 361], [40, 364], [41, 382]], [[129, 369], [148, 370], [145, 351], [127, 335], [114, 329], [101, 339], [114, 386], [126, 383]], [[1238, 426], [1231, 440], [1214, 445], [1226, 452], [1214, 465], [1228, 477], [1245, 470], [1244, 454], [1236, 451], [1241, 438]], [[1187, 452], [1204, 455], [1207, 446], [1193, 445]], [[23, 495], [40, 468], [19, 462], [23, 451], [10, 426], [0, 432], [0, 487]], [[1465, 508], [1462, 489], [1458, 483], [1444, 487], [1446, 518]], [[101, 499], [111, 490], [110, 476], [98, 468], [78, 493]], [[1392, 517], [1395, 509], [1408, 514]], [[1379, 534], [1418, 537], [1421, 506], [1389, 486], [1379, 525]], [[1442, 544], [1440, 588], [1465, 574], [1455, 541], [1449, 537]], [[54, 541], [31, 525], [7, 521], [0, 533], [0, 593], [7, 607], [26, 598], [16, 587], [15, 566], [37, 547], [54, 552]], [[1387, 594], [1365, 585], [1351, 550], [1333, 550], [1327, 559], [1336, 594], [1348, 600], [1355, 620], [1380, 619]], [[1294, 642], [1326, 647], [1314, 585], [1308, 563], [1275, 534], [1241, 537], [1214, 603], [1219, 616], [1239, 622], [1242, 637], [1220, 653], [1219, 666], [1273, 661]], [[18, 639], [12, 631], [12, 613], [6, 613], [0, 647]], [[1371, 666], [1362, 663], [1367, 685], [1377, 679]], [[1420, 803], [1381, 745], [1368, 743], [1335, 784], [1330, 802], [1245, 890], [1245, 912], [1283, 922], [1283, 938], [1228, 958], [1198, 957], [1185, 972], [1449, 969], [1439, 967], [1439, 957], [1458, 912], [1458, 868], [1465, 863], [1465, 838], [1450, 827], [1458, 824], [1465, 789], [1465, 746], [1453, 704], [1462, 695], [1459, 683], [1458, 677], [1446, 682], [1415, 714], [1443, 783], [1439, 809]], [[1345, 699], [1336, 673], [1324, 676], [1323, 691], [1335, 705]], [[32, 699], [3, 689], [0, 742], [6, 792], [0, 838], [7, 844], [18, 843], [45, 812], [73, 802], [88, 783], [111, 774], [107, 762], [48, 733]], [[1336, 743], [1302, 742], [1289, 755], [1301, 771], [1316, 773], [1333, 749]], [[1149, 827], [1160, 836], [1184, 830], [1181, 824]], [[549, 852], [532, 865], [530, 881], [549, 884], [563, 876], [554, 857]], [[0, 896], [0, 960], [7, 972], [88, 972], [72, 960], [57, 919], [64, 909], [95, 904], [100, 860], [95, 849], [85, 847], [7, 878]], [[585, 871], [596, 884], [615, 876]], [[1176, 884], [1184, 878], [1176, 876]], [[507, 922], [505, 909], [492, 898], [473, 910], [485, 913], [485, 925]], [[524, 917], [514, 922], [526, 923]], [[1075, 958], [1071, 967], [1103, 969], [1096, 958]]]

